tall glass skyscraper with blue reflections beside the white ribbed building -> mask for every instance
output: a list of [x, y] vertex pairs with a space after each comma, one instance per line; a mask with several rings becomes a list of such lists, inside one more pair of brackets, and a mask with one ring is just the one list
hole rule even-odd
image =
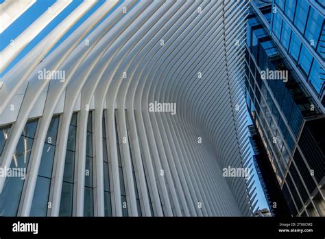
[[324, 216], [324, 1], [251, 1], [246, 101], [293, 216]]

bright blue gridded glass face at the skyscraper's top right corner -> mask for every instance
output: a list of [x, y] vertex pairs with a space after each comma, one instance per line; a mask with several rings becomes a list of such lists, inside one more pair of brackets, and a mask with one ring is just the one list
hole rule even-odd
[[324, 105], [325, 25], [320, 11], [306, 0], [276, 0], [270, 30]]

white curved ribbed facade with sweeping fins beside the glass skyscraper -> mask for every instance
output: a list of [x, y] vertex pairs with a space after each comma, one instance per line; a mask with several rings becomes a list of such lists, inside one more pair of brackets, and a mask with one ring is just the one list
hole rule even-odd
[[[123, 215], [121, 181], [129, 216], [251, 216], [252, 179], [222, 176], [223, 168], [249, 164], [243, 93], [248, 1], [127, 0], [114, 10], [118, 1], [106, 1], [46, 56], [90, 2], [71, 12], [1, 79], [0, 127], [10, 127], [1, 168], [10, 167], [25, 125], [37, 119], [16, 216], [32, 216], [53, 116], [58, 131], [46, 215], [60, 215], [73, 113], [72, 216], [84, 216], [90, 112], [94, 216], [105, 215], [106, 149], [112, 216]], [[40, 80], [44, 70], [64, 72], [64, 79]], [[175, 103], [176, 114], [150, 112], [155, 101]], [[4, 194], [8, 180], [0, 177], [4, 216], [12, 200]]]

